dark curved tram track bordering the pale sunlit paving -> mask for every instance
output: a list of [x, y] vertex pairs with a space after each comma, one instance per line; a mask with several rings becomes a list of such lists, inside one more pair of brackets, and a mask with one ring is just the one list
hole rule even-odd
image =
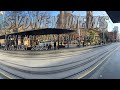
[[[105, 52], [106, 53], [106, 52]], [[100, 55], [103, 55], [104, 53], [102, 53], [102, 54], [100, 54]], [[80, 60], [80, 61], [76, 61], [76, 62], [71, 62], [71, 63], [67, 63], [67, 64], [62, 64], [62, 65], [57, 65], [57, 66], [49, 66], [49, 67], [39, 67], [40, 69], [47, 69], [47, 68], [60, 68], [60, 67], [62, 67], [63, 68], [63, 66], [69, 66], [69, 65], [73, 65], [73, 64], [75, 64], [75, 65], [73, 65], [73, 66], [75, 66], [75, 67], [77, 67], [77, 66], [83, 66], [83, 65], [85, 65], [86, 63], [89, 63], [90, 61], [93, 61], [93, 60], [95, 60], [96, 58], [98, 58], [100, 55], [97, 55], [97, 56], [95, 56], [95, 57], [92, 57], [92, 58], [87, 58], [87, 59], [83, 59], [83, 60]], [[85, 62], [83, 62], [83, 63], [80, 63], [80, 64], [77, 64], [76, 65], [76, 63], [79, 63], [79, 62], [82, 62], [82, 61], [85, 61]], [[5, 66], [5, 67], [9, 67], [9, 68], [12, 68], [12, 69], [15, 69], [15, 70], [17, 70], [17, 71], [22, 71], [22, 72], [27, 72], [27, 73], [32, 73], [32, 74], [50, 74], [51, 73], [51, 71], [28, 71], [28, 70], [23, 70], [23, 69], [19, 69], [19, 68], [15, 68], [15, 67], [11, 67], [11, 66], [7, 66], [7, 65], [5, 65], [5, 64], [0, 64], [0, 65], [3, 65], [3, 66]], [[74, 67], [72, 67], [72, 68], [74, 68]], [[31, 68], [32, 69], [32, 68]], [[61, 70], [53, 70], [54, 71], [54, 73], [57, 73], [57, 72], [62, 72], [62, 71], [65, 71], [65, 70], [69, 70], [70, 69], [70, 67], [67, 67], [67, 68], [64, 68], [64, 69], [61, 69]]]

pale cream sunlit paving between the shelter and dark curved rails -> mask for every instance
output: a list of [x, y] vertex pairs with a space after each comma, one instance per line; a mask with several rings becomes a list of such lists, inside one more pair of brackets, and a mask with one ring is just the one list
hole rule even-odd
[[[91, 48], [97, 48], [97, 47], [101, 47], [101, 46], [103, 46], [103, 45], [88, 46], [88, 47], [74, 48], [74, 49], [73, 48], [72, 49], [61, 49], [61, 50], [54, 51], [55, 53], [52, 53], [52, 54], [48, 54], [48, 53], [51, 53], [53, 51], [46, 51], [47, 54], [37, 55], [37, 56], [36, 55], [28, 55], [28, 53], [26, 53], [28, 51], [26, 51], [26, 52], [21, 51], [18, 53], [16, 51], [13, 51], [14, 55], [11, 54], [9, 51], [10, 54], [6, 54], [6, 55], [3, 54], [4, 52], [0, 53], [0, 55], [1, 55], [0, 62], [4, 63], [6, 65], [15, 66], [15, 67], [21, 67], [21, 66], [22, 67], [47, 67], [47, 66], [52, 66], [52, 65], [53, 66], [54, 65], [62, 65], [65, 63], [71, 63], [72, 61], [75, 62], [78, 59], [82, 60], [84, 58], [88, 58], [93, 53], [88, 54], [87, 56], [86, 56], [86, 54], [83, 54], [83, 53], [89, 52], [89, 49], [91, 49]], [[60, 53], [60, 51], [61, 51], [61, 53]], [[18, 57], [15, 57], [16, 56], [15, 52], [18, 54]], [[94, 53], [96, 53], [96, 52], [98, 52], [98, 51], [96, 50]], [[19, 55], [19, 53], [22, 55]], [[26, 56], [28, 56], [27, 58], [24, 55], [24, 53], [26, 53]], [[32, 53], [35, 53], [35, 52], [32, 52]], [[36, 53], [39, 54], [41, 52], [36, 52]], [[20, 56], [22, 56], [23, 58], [21, 58]], [[21, 65], [21, 66], [19, 66], [19, 65]]]

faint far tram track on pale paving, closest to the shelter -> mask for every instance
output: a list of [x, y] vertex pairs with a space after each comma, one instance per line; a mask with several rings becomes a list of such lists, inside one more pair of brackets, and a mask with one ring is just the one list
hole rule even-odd
[[[86, 50], [78, 50], [78, 51], [70, 51], [70, 52], [66, 52], [67, 55], [64, 54], [64, 52], [61, 52], [61, 53], [55, 53], [55, 54], [48, 54], [48, 55], [45, 55], [45, 56], [42, 56], [42, 55], [29, 55], [29, 54], [17, 54], [17, 53], [7, 53], [7, 52], [2, 52], [2, 55], [7, 55], [7, 56], [13, 56], [13, 57], [16, 57], [16, 58], [26, 58], [26, 59], [29, 59], [30, 57], [33, 57], [33, 58], [36, 58], [35, 60], [46, 60], [46, 57], [49, 57], [49, 59], [56, 59], [57, 56], [59, 56], [59, 58], [64, 58], [64, 57], [70, 57], [73, 55], [73, 52], [74, 52], [74, 55], [77, 56], [77, 55], [82, 55], [82, 54], [86, 54], [88, 52], [91, 52], [91, 51], [96, 51], [98, 48], [101, 48], [101, 47], [104, 47], [104, 46], [99, 46], [99, 47], [94, 47], [94, 48], [89, 48], [89, 49], [86, 49], [86, 50], [89, 50], [89, 51], [86, 51]], [[77, 52], [81, 52], [81, 51], [86, 51], [86, 52], [82, 52], [80, 54], [78, 54]], [[75, 54], [77, 53], [77, 54]], [[64, 54], [64, 55], [62, 55]], [[61, 56], [60, 56], [61, 55]]]

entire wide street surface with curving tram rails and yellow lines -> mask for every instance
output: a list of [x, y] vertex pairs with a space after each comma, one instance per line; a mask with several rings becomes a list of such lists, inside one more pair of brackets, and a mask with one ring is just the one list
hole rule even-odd
[[0, 51], [0, 79], [120, 78], [120, 43], [45, 55], [13, 52]]

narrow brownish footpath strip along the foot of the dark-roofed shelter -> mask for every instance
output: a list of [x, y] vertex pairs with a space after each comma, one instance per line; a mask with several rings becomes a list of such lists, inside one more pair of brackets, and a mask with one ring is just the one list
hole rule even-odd
[[[108, 44], [106, 44], [108, 45]], [[72, 47], [72, 48], [65, 48], [59, 50], [47, 50], [47, 51], [5, 51], [0, 50], [2, 53], [9, 53], [9, 54], [19, 54], [19, 55], [44, 55], [44, 54], [58, 54], [58, 53], [66, 53], [66, 52], [75, 52], [75, 51], [82, 51], [91, 48], [97, 48], [105, 45], [95, 45], [95, 46], [86, 46], [86, 47]]]

